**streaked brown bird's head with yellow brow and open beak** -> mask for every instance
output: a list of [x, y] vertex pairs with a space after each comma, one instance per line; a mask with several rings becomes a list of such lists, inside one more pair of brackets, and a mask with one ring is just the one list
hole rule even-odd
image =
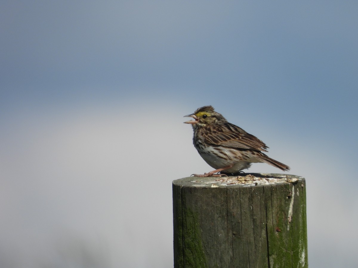
[[187, 124], [192, 124], [193, 128], [217, 124], [220, 121], [226, 121], [226, 119], [221, 114], [214, 111], [213, 106], [201, 107], [193, 114], [188, 114], [184, 117], [194, 118], [194, 120], [184, 122]]

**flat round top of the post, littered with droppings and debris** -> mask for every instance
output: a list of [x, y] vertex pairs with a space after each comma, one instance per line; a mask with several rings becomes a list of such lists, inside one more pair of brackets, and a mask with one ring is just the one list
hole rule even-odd
[[264, 186], [305, 181], [303, 177], [288, 174], [245, 173], [242, 175], [230, 177], [187, 177], [173, 180], [173, 184], [187, 187], [217, 188]]

